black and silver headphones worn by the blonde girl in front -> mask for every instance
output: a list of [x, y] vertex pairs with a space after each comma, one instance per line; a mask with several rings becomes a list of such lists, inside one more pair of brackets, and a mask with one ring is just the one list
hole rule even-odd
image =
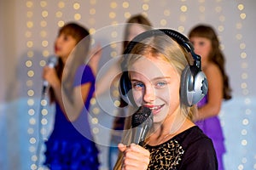
[[[205, 73], [201, 71], [201, 56], [195, 54], [194, 47], [189, 42], [187, 37], [184, 37], [181, 33], [170, 29], [155, 29], [145, 31], [135, 37], [131, 42], [129, 42], [127, 48], [125, 48], [124, 55], [130, 54], [132, 48], [134, 48], [137, 42], [141, 42], [144, 38], [160, 35], [167, 35], [171, 37], [192, 55], [194, 64], [187, 65], [182, 72], [180, 98], [184, 105], [192, 106], [197, 104], [207, 94], [208, 82]], [[131, 81], [128, 76], [128, 71], [125, 68], [125, 62], [126, 59], [124, 59], [121, 64], [123, 73], [120, 77], [119, 93], [125, 102], [132, 103], [134, 105], [135, 102], [133, 101], [133, 97], [130, 91]]]

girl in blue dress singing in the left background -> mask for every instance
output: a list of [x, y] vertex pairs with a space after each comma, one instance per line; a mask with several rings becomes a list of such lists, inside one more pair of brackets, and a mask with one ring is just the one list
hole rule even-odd
[[84, 64], [89, 47], [89, 32], [76, 23], [68, 23], [55, 39], [58, 65], [44, 67], [50, 101], [55, 103], [55, 125], [45, 143], [44, 165], [49, 169], [99, 167], [88, 121], [90, 99], [95, 91], [95, 76], [90, 66]]

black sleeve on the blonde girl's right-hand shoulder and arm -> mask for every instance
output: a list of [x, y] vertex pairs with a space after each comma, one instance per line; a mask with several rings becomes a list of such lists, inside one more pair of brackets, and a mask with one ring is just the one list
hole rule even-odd
[[188, 170], [218, 170], [218, 161], [212, 140], [202, 138], [189, 144], [180, 166], [180, 169]]

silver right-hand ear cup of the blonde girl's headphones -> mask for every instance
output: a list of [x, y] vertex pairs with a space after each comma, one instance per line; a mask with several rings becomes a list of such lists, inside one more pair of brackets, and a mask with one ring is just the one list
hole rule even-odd
[[207, 77], [194, 65], [187, 65], [181, 76], [180, 97], [184, 105], [197, 104], [208, 91]]

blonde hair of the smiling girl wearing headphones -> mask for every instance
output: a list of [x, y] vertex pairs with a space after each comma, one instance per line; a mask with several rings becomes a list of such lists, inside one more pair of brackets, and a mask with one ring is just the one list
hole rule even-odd
[[[142, 56], [151, 54], [157, 59], [162, 59], [169, 62], [173, 68], [176, 69], [178, 77], [181, 77], [184, 68], [190, 63], [189, 53], [178, 44], [175, 40], [167, 35], [157, 35], [154, 37], [147, 37], [141, 42], [137, 42], [136, 45], [131, 49], [131, 53], [125, 56], [123, 60], [124, 65], [128, 68], [134, 64], [137, 59]], [[187, 116], [190, 120], [195, 114], [195, 105], [188, 107], [180, 102], [181, 112], [184, 116]], [[125, 129], [131, 128], [131, 116], [125, 118]], [[128, 144], [131, 138], [129, 131], [124, 133], [123, 143]], [[114, 169], [120, 169], [122, 163], [122, 153], [119, 153], [118, 161]]]

